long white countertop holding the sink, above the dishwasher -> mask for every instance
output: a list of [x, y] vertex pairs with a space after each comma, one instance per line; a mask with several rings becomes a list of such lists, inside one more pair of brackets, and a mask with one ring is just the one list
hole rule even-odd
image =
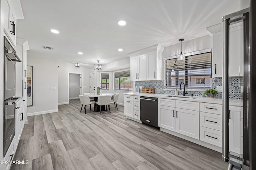
[[[213, 103], [213, 104], [222, 104], [222, 99], [218, 98], [205, 98], [205, 97], [196, 97], [196, 99], [190, 99], [190, 98], [177, 98], [177, 97], [168, 97], [170, 94], [149, 94], [149, 93], [124, 93], [126, 95], [133, 95], [133, 96], [145, 96], [145, 97], [152, 97], [152, 98], [164, 98], [164, 99], [174, 99], [174, 100], [186, 100], [186, 101], [192, 101], [192, 102], [204, 102], [204, 103]], [[171, 95], [175, 96], [175, 95]], [[243, 106], [243, 100], [240, 99], [230, 99], [229, 100], [230, 106]]]

